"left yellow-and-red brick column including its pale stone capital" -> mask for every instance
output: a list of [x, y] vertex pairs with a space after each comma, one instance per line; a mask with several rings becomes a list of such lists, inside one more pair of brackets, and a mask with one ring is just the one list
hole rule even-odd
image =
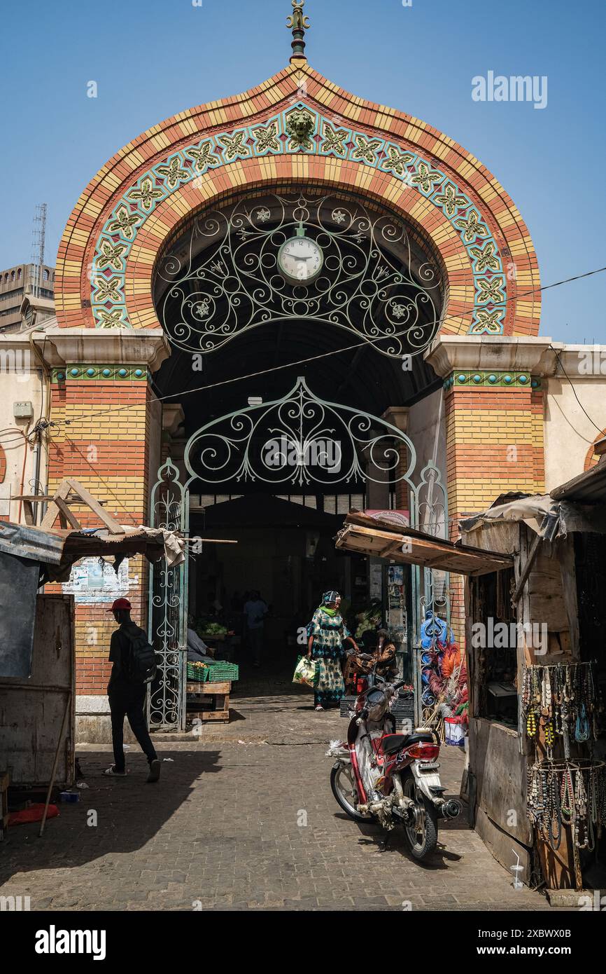
[[[53, 362], [49, 492], [63, 478], [74, 477], [105, 502], [120, 524], [136, 528], [149, 523], [150, 480], [159, 460], [153, 457], [153, 445], [157, 442], [160, 449], [160, 410], [150, 380], [151, 368], [166, 357], [165, 339], [130, 331], [117, 340], [107, 332], [83, 331], [79, 341], [67, 330], [53, 338], [53, 352], [47, 356]], [[88, 507], [72, 510], [83, 527], [99, 527]], [[144, 628], [148, 577], [145, 558], [128, 559], [127, 581], [119, 592], [130, 600], [132, 616]], [[81, 579], [74, 589], [76, 692], [81, 703], [106, 693], [109, 640], [115, 628], [102, 590], [95, 592], [86, 581]]]

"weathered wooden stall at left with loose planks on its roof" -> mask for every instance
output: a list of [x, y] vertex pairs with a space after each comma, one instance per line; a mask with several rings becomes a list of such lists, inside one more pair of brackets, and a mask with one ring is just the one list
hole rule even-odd
[[[64, 481], [53, 497], [22, 500], [26, 524], [0, 522], [0, 833], [9, 788], [21, 795], [48, 788], [49, 798], [50, 786], [75, 781], [73, 596], [42, 586], [67, 581], [83, 557], [110, 557], [116, 566], [134, 554], [173, 565], [185, 558], [184, 539], [121, 526], [76, 480]], [[32, 506], [40, 503], [48, 509], [36, 527]], [[70, 504], [89, 506], [100, 525], [82, 528]]]

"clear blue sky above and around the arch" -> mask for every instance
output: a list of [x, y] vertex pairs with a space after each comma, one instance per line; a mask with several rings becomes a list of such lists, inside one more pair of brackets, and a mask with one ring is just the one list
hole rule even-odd
[[[89, 178], [139, 132], [236, 94], [290, 55], [290, 0], [28, 0], [1, 15], [0, 267], [47, 261]], [[603, 0], [307, 0], [310, 63], [445, 131], [513, 197], [544, 284], [606, 265]], [[472, 78], [547, 75], [548, 104], [477, 102]], [[87, 97], [96, 81], [98, 97]], [[543, 334], [606, 343], [606, 274], [548, 291]]]

